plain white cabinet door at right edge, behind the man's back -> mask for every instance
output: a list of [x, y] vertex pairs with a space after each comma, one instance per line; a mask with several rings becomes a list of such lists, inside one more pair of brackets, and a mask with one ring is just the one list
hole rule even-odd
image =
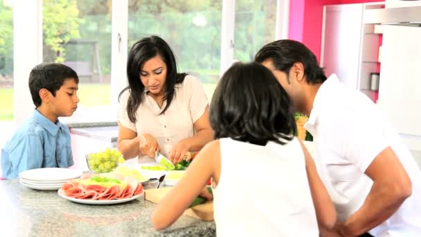
[[[384, 26], [380, 107], [403, 136], [421, 150], [421, 28]], [[414, 149], [414, 148], [412, 148]]]

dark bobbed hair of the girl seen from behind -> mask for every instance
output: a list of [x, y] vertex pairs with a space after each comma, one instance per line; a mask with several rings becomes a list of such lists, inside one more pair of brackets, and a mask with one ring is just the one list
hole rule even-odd
[[218, 83], [209, 110], [215, 139], [284, 144], [296, 132], [294, 107], [269, 69], [236, 63]]

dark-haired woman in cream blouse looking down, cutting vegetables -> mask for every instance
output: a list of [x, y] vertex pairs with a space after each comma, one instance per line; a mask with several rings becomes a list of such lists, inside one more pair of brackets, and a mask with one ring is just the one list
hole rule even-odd
[[125, 159], [173, 163], [213, 139], [208, 100], [199, 80], [177, 73], [170, 46], [158, 36], [136, 42], [127, 59], [129, 86], [120, 93], [118, 150]]

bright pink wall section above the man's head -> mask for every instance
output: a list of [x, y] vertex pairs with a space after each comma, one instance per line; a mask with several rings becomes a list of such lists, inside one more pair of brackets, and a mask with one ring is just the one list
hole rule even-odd
[[320, 60], [323, 6], [376, 1], [382, 0], [290, 0], [288, 37], [303, 42]]

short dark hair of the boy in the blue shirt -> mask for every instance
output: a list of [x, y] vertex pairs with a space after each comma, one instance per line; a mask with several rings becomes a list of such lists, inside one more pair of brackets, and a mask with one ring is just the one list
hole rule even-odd
[[29, 74], [29, 90], [35, 107], [41, 105], [40, 89], [47, 89], [55, 96], [62, 87], [64, 80], [73, 79], [79, 83], [78, 74], [64, 64], [47, 62], [35, 66]]

